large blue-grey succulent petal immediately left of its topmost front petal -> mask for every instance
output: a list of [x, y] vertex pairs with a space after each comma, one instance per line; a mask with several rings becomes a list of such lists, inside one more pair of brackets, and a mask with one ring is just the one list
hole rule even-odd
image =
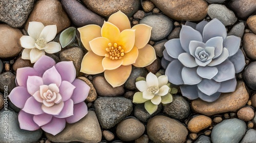
[[189, 26], [182, 25], [182, 28], [180, 31], [180, 43], [181, 43], [182, 49], [187, 53], [189, 53], [189, 49], [188, 49], [189, 43], [190, 41], [193, 41], [193, 40], [199, 41], [199, 42], [203, 41], [203, 38], [200, 32], [198, 32], [197, 30]]

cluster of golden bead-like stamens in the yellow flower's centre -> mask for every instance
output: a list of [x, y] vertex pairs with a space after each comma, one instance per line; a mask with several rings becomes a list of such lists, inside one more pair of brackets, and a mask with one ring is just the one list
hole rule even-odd
[[106, 48], [106, 52], [108, 52], [109, 54], [105, 54], [105, 57], [112, 60], [118, 60], [124, 56], [124, 50], [120, 45], [117, 46], [117, 43], [114, 43], [113, 45], [112, 43], [109, 43], [108, 46], [109, 47]]

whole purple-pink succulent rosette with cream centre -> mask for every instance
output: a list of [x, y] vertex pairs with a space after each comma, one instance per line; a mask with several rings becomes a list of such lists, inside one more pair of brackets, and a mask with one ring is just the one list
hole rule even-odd
[[53, 135], [67, 123], [75, 123], [87, 112], [90, 87], [76, 79], [72, 61], [55, 61], [42, 56], [33, 67], [18, 68], [16, 84], [9, 95], [11, 102], [22, 109], [18, 114], [21, 129], [42, 129]]

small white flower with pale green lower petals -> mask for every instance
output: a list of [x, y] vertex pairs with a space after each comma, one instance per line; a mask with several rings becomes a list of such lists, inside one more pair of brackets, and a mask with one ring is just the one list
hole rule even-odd
[[160, 103], [168, 104], [173, 101], [167, 83], [167, 76], [160, 76], [157, 78], [157, 76], [152, 73], [147, 74], [146, 81], [142, 80], [135, 83], [140, 92], [134, 94], [133, 102], [145, 102], [144, 106], [146, 111], [153, 114]]

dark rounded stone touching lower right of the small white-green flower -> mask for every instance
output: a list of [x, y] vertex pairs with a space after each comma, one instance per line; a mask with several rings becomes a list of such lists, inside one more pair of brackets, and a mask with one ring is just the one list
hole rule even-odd
[[163, 106], [163, 112], [182, 120], [190, 113], [190, 105], [182, 96], [173, 96], [173, 102]]

